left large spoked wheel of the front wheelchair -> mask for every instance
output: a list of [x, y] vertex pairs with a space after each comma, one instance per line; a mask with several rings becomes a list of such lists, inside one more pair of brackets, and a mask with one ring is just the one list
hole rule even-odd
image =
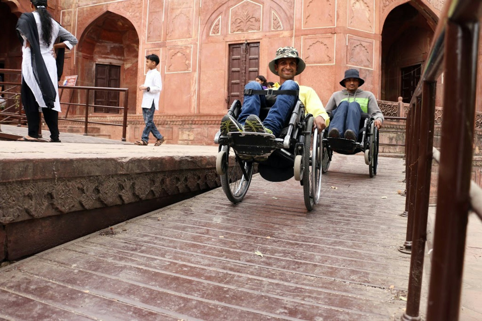
[[[223, 191], [233, 203], [241, 202], [248, 192], [251, 178], [253, 177], [253, 162], [244, 161], [234, 153], [229, 146], [222, 146], [218, 158], [222, 159], [219, 168], [224, 172], [221, 176]], [[216, 169], [219, 172], [216, 161]]]

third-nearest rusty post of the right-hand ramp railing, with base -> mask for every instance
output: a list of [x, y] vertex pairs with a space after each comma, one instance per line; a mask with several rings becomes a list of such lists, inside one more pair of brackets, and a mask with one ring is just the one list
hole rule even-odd
[[407, 158], [407, 198], [405, 200], [405, 208], [408, 208], [407, 232], [405, 242], [399, 247], [399, 251], [410, 254], [412, 251], [412, 234], [415, 215], [415, 185], [417, 182], [417, 162], [418, 162], [418, 141], [420, 139], [420, 108], [419, 100], [416, 100], [415, 106], [410, 108], [410, 141], [408, 142], [408, 158]]

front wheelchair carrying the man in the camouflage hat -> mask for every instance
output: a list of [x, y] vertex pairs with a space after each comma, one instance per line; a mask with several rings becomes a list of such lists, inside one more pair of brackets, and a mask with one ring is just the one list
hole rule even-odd
[[[261, 109], [261, 119], [268, 110]], [[237, 119], [240, 113], [241, 102], [235, 100], [228, 115]], [[254, 132], [229, 132], [222, 136], [218, 131], [214, 138], [214, 143], [219, 144], [216, 171], [229, 201], [238, 203], [244, 198], [257, 163], [261, 177], [266, 180], [283, 181], [294, 176], [303, 186], [306, 208], [312, 210], [320, 199], [324, 132], [318, 132], [317, 128], [312, 132], [313, 121], [311, 114], [305, 115], [305, 106], [298, 100], [280, 137]], [[270, 166], [280, 163], [283, 166], [279, 168]]]

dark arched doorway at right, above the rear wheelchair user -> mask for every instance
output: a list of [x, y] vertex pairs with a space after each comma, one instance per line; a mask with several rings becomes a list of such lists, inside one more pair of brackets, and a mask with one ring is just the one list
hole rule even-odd
[[433, 29], [409, 3], [388, 13], [382, 31], [381, 99], [408, 103], [427, 59]]

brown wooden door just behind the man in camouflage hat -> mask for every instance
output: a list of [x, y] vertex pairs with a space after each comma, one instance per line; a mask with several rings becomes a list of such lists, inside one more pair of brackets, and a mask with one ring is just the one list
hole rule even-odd
[[259, 75], [259, 42], [229, 45], [228, 108], [234, 100], [243, 102], [243, 90]]

